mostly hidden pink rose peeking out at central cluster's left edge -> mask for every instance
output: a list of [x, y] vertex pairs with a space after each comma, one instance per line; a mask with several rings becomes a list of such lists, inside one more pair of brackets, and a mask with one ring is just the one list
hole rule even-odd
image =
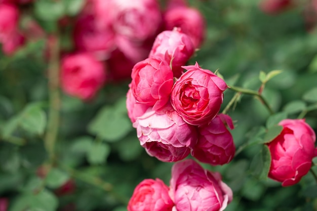
[[131, 88], [129, 89], [127, 93], [126, 104], [127, 104], [128, 116], [132, 123], [135, 122], [136, 118], [142, 116], [145, 113], [145, 111], [149, 108], [149, 106], [147, 105], [136, 102], [135, 97], [132, 94]]

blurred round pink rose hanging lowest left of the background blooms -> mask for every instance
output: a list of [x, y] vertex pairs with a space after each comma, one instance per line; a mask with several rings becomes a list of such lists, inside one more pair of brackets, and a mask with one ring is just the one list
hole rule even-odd
[[66, 56], [61, 65], [62, 88], [69, 95], [90, 100], [105, 82], [103, 64], [89, 54]]

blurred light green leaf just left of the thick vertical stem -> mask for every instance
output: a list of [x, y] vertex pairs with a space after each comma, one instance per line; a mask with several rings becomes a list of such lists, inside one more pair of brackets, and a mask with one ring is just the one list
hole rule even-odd
[[46, 114], [39, 103], [29, 104], [20, 114], [20, 125], [25, 131], [42, 135], [46, 127]]

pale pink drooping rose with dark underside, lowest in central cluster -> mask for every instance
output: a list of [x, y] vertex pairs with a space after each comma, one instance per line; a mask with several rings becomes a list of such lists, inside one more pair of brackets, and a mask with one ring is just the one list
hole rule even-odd
[[164, 112], [148, 109], [133, 126], [146, 152], [164, 162], [184, 159], [197, 141], [195, 127], [184, 122], [171, 106]]

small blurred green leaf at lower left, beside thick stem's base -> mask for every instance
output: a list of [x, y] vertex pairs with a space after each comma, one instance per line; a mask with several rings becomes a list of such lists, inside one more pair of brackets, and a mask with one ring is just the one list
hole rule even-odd
[[58, 168], [52, 168], [47, 175], [45, 182], [50, 188], [59, 188], [67, 182], [69, 175]]

